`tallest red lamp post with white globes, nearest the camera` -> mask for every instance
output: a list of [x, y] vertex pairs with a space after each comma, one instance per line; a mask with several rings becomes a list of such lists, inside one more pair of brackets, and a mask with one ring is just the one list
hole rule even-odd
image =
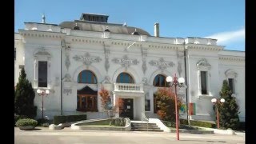
[[182, 87], [185, 82], [184, 78], [177, 78], [176, 74], [174, 79], [171, 76], [166, 78], [166, 82], [170, 82], [170, 86], [174, 86], [175, 88], [175, 115], [176, 115], [176, 138], [179, 140], [179, 131], [178, 131], [178, 104], [177, 104], [177, 86]]

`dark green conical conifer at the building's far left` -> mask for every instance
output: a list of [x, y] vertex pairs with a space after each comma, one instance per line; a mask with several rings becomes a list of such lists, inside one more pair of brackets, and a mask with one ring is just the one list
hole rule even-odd
[[22, 68], [14, 91], [14, 113], [25, 115], [27, 118], [34, 118], [37, 114], [36, 110], [34, 90], [31, 83], [26, 79], [25, 70]]

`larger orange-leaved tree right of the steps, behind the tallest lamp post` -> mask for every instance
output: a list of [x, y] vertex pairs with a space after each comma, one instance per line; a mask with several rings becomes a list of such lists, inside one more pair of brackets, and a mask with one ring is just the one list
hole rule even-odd
[[[175, 94], [170, 88], [161, 88], [156, 92], [157, 114], [164, 121], [175, 122]], [[178, 110], [182, 106], [182, 101], [177, 97]]]

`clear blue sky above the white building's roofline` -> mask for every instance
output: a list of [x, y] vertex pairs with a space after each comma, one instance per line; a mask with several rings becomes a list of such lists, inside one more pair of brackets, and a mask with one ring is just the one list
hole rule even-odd
[[59, 24], [82, 13], [109, 15], [108, 22], [135, 26], [160, 37], [217, 38], [225, 50], [245, 50], [245, 0], [15, 0], [14, 31], [24, 22]]

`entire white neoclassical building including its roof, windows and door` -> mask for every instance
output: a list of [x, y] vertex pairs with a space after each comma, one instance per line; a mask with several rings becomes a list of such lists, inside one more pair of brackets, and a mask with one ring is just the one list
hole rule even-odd
[[[131, 119], [143, 114], [157, 118], [154, 93], [168, 87], [167, 76], [186, 79], [178, 89], [184, 106], [181, 117], [214, 120], [212, 98], [219, 98], [222, 81], [228, 80], [245, 121], [245, 52], [223, 50], [217, 39], [159, 37], [141, 28], [110, 23], [104, 14], [82, 14], [74, 22], [25, 22], [14, 34], [14, 81], [25, 68], [34, 90], [50, 90], [44, 114], [87, 114], [105, 118], [100, 95], [110, 91], [113, 105], [122, 98], [122, 113]], [[42, 97], [34, 104], [41, 116]], [[187, 107], [187, 108], [186, 108]]]

